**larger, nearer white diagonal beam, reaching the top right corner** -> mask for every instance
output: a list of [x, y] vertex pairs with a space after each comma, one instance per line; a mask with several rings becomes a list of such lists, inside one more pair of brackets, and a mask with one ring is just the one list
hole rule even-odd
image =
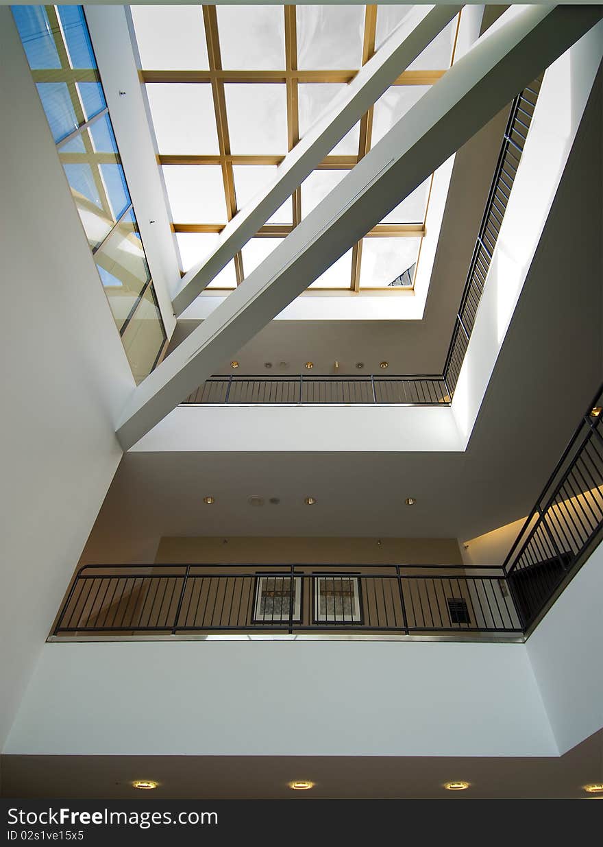
[[601, 16], [596, 6], [505, 13], [243, 285], [134, 390], [118, 428], [139, 440], [407, 197]]

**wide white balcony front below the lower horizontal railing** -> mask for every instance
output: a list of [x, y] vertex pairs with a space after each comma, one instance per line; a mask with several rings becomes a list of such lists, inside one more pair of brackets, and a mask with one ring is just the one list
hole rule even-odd
[[556, 756], [524, 645], [47, 644], [8, 754]]

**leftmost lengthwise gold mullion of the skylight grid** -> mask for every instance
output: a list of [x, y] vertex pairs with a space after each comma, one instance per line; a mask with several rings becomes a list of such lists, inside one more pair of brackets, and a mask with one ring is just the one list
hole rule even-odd
[[[230, 156], [230, 136], [228, 134], [224, 82], [217, 76], [217, 71], [222, 70], [222, 57], [220, 54], [220, 37], [218, 35], [217, 11], [215, 6], [203, 6], [203, 23], [206, 28], [207, 57], [211, 73], [211, 94], [216, 116], [226, 213], [227, 219], [232, 220], [237, 213], [237, 197], [234, 190], [233, 163], [228, 158]], [[237, 285], [240, 285], [244, 280], [243, 257], [240, 252], [234, 257], [234, 269], [237, 275]]]

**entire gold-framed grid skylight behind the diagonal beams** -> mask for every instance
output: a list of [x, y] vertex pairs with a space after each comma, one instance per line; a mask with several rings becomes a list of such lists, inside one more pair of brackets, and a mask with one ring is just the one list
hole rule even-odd
[[[240, 208], [369, 61], [412, 6], [132, 6], [181, 270], [200, 263]], [[454, 58], [460, 14], [211, 281], [244, 280], [326, 197]], [[310, 289], [408, 291], [432, 177]], [[410, 284], [410, 285], [409, 285]]]

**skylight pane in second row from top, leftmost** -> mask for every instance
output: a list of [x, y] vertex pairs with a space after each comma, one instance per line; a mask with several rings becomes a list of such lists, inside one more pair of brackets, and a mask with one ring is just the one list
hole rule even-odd
[[210, 85], [156, 83], [146, 93], [160, 153], [219, 152]]

